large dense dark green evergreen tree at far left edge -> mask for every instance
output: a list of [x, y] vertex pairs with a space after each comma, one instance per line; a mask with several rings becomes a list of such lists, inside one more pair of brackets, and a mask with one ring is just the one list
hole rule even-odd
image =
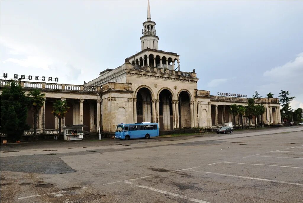
[[29, 102], [20, 83], [15, 81], [4, 86], [0, 101], [1, 132], [7, 134], [8, 140], [19, 140], [24, 130], [29, 129], [26, 123]]

